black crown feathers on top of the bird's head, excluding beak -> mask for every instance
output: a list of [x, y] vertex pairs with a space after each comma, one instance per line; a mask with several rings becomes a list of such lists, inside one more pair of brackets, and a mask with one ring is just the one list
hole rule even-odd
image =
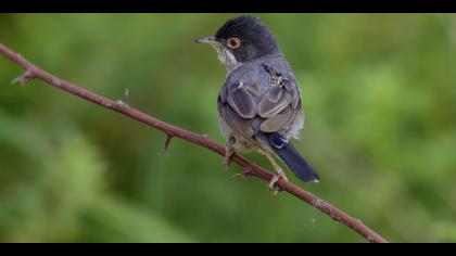
[[273, 34], [259, 17], [248, 15], [229, 20], [215, 34], [216, 40], [224, 44], [232, 37], [241, 39], [239, 48], [229, 49], [237, 61], [248, 62], [267, 54], [280, 53]]

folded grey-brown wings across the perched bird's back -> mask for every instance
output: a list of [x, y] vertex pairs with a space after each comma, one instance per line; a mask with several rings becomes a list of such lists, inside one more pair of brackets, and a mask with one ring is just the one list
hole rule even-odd
[[[255, 131], [288, 129], [301, 108], [292, 74], [263, 64], [254, 78], [227, 79], [218, 97], [218, 111], [235, 131], [251, 138]], [[255, 127], [253, 119], [259, 120]], [[255, 124], [258, 124], [257, 121]]]

